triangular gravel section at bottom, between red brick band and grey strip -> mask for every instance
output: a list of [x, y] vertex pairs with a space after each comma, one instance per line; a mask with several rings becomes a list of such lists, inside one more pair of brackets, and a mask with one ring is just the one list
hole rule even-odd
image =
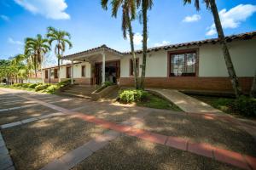
[[73, 170], [132, 169], [238, 169], [204, 156], [122, 136], [73, 167]]

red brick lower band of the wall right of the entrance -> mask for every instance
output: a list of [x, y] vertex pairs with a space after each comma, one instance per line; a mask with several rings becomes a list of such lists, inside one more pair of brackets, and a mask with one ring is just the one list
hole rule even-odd
[[[239, 77], [241, 88], [248, 92], [252, 86], [253, 77]], [[120, 86], [133, 86], [133, 77], [121, 77]], [[228, 77], [147, 77], [146, 87], [177, 88], [191, 90], [232, 91]]]

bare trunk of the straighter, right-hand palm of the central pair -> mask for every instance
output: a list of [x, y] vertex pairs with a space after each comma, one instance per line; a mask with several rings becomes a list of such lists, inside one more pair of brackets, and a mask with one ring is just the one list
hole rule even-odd
[[147, 41], [148, 41], [148, 8], [143, 0], [143, 65], [142, 65], [142, 77], [141, 87], [144, 89], [144, 79], [146, 75], [146, 60], [147, 60]]

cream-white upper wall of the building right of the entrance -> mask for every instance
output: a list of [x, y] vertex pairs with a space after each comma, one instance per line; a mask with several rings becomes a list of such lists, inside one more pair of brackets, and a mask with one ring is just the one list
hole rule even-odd
[[[256, 69], [256, 39], [233, 41], [228, 43], [231, 58], [238, 77], [253, 77]], [[199, 48], [199, 77], [228, 77], [224, 56], [219, 44], [206, 44], [189, 48]], [[187, 47], [171, 49], [176, 51]], [[147, 57], [146, 77], [167, 77], [167, 53], [162, 49], [150, 52]], [[139, 64], [143, 63], [142, 54], [137, 54]], [[120, 76], [130, 77], [131, 55], [126, 54], [120, 62]], [[140, 68], [141, 75], [141, 68]]]

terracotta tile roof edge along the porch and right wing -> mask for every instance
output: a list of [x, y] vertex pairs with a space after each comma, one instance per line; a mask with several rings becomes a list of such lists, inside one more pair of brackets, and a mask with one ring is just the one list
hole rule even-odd
[[[245, 33], [241, 33], [241, 34], [236, 34], [236, 35], [231, 35], [226, 37], [227, 42], [231, 42], [232, 40], [235, 39], [241, 39], [241, 40], [247, 40], [247, 39], [251, 39], [253, 37], [256, 36], [256, 31], [251, 31], [251, 32], [245, 32]], [[180, 48], [180, 47], [189, 47], [192, 45], [201, 45], [201, 44], [206, 44], [206, 43], [217, 43], [219, 42], [218, 38], [212, 38], [212, 39], [206, 39], [206, 40], [201, 40], [201, 41], [194, 41], [194, 42], [183, 42], [183, 43], [177, 43], [177, 44], [170, 44], [170, 45], [165, 45], [165, 46], [160, 46], [160, 47], [154, 47], [154, 48], [148, 48], [148, 52], [151, 51], [159, 51], [160, 49], [170, 49], [170, 48]], [[101, 50], [102, 48], [107, 49], [108, 51], [112, 51], [113, 53], [117, 53], [117, 54], [131, 54], [131, 51], [127, 51], [127, 52], [119, 52], [113, 48], [108, 48], [108, 46], [106, 46], [105, 44], [102, 46], [99, 46], [97, 48], [90, 48], [88, 50], [76, 53], [76, 54], [69, 54], [63, 57], [63, 59], [70, 59], [73, 56], [78, 56], [80, 54], [89, 54], [90, 52], [97, 52], [99, 50]], [[136, 50], [137, 54], [142, 54], [143, 50]]]

